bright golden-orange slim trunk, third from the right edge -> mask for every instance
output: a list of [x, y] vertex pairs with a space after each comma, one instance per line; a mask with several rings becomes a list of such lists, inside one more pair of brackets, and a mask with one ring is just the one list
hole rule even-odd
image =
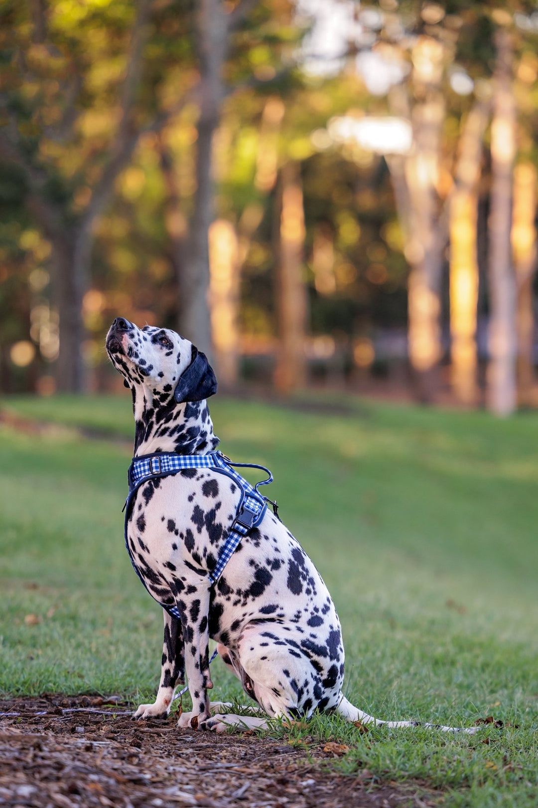
[[450, 199], [450, 336], [454, 393], [464, 404], [478, 400], [478, 179], [489, 104], [478, 102], [465, 121]]

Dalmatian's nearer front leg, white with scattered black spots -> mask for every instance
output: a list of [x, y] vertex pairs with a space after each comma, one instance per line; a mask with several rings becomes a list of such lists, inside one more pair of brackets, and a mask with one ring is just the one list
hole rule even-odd
[[[190, 587], [194, 589], [194, 587]], [[190, 595], [182, 593], [179, 609], [185, 638], [185, 667], [189, 681], [191, 713], [182, 713], [177, 726], [197, 729], [210, 716], [207, 690], [213, 687], [209, 672], [209, 614], [210, 589], [199, 583]]]

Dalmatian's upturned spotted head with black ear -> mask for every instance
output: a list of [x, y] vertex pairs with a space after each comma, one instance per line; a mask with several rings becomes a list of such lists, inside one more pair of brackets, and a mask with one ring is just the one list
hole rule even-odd
[[217, 392], [206, 355], [175, 331], [140, 329], [117, 317], [106, 335], [106, 351], [126, 387], [144, 385], [161, 403], [198, 402]]

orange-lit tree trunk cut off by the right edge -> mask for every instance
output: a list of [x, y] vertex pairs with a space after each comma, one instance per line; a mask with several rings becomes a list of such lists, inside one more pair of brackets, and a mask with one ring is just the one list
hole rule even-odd
[[514, 171], [514, 214], [512, 250], [517, 284], [517, 383], [518, 402], [531, 406], [535, 401], [535, 375], [532, 356], [534, 311], [532, 281], [536, 272], [536, 167], [532, 162]]

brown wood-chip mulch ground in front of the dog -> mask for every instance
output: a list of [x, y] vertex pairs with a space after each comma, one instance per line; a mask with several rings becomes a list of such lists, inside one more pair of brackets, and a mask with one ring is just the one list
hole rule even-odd
[[425, 808], [440, 796], [336, 774], [337, 743], [177, 730], [127, 710], [90, 696], [0, 700], [0, 805]]

